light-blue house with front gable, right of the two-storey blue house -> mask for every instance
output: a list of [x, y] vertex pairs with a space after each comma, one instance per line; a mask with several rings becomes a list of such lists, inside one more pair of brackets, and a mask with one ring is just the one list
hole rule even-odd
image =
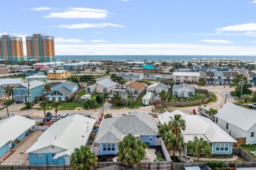
[[47, 101], [67, 101], [78, 89], [78, 84], [73, 81], [65, 81], [52, 87], [53, 91], [45, 96]]

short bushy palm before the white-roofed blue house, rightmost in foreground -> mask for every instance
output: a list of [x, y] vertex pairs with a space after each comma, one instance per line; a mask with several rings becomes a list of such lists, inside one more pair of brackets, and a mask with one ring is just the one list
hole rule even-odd
[[211, 156], [211, 145], [209, 142], [204, 140], [204, 138], [195, 137], [194, 141], [188, 142], [188, 151], [197, 157], [197, 162], [199, 162], [200, 156], [203, 154], [205, 157]]

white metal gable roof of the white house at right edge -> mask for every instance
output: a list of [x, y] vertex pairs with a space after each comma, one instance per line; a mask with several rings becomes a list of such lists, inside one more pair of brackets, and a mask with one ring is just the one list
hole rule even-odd
[[248, 131], [256, 124], [256, 112], [235, 104], [226, 103], [223, 105], [215, 117], [228, 122], [244, 131]]

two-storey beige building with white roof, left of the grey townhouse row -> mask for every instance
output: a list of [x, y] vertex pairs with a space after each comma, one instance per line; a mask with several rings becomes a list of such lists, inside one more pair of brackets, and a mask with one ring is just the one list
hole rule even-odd
[[199, 77], [199, 72], [173, 72], [173, 81], [177, 83], [198, 83]]

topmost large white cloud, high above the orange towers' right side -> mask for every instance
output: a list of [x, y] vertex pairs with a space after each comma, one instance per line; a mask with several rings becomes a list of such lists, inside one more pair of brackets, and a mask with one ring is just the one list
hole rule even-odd
[[65, 12], [51, 12], [45, 15], [45, 18], [83, 18], [83, 19], [104, 19], [108, 16], [107, 10], [84, 8], [84, 7], [69, 7]]

